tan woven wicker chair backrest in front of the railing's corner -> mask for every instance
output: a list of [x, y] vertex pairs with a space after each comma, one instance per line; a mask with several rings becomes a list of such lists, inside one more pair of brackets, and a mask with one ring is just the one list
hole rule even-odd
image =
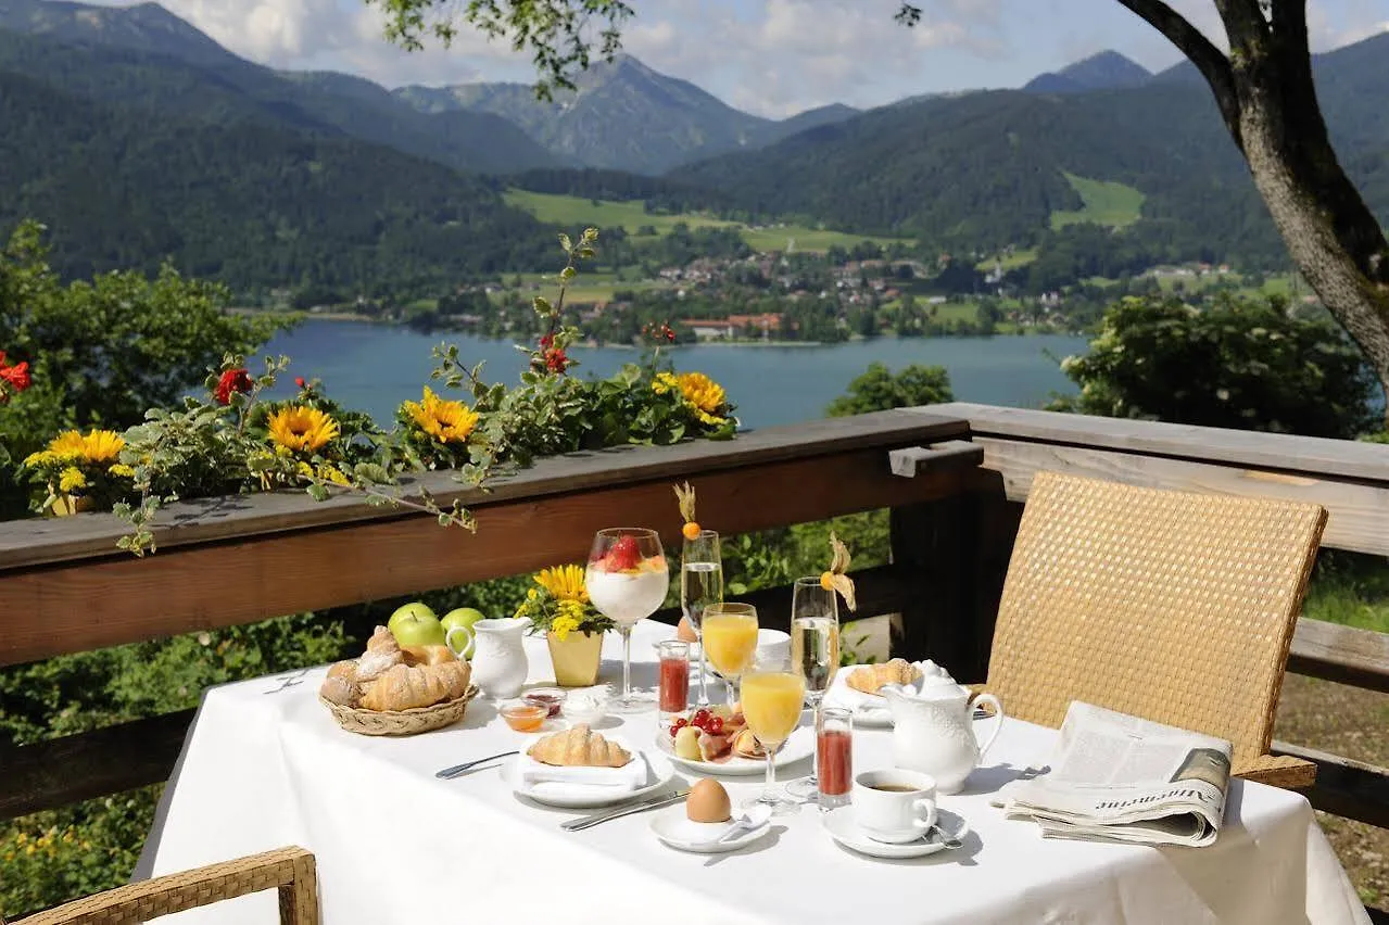
[[1288, 647], [1326, 524], [1317, 504], [1039, 472], [989, 660], [1008, 715], [1072, 700], [1268, 751]]

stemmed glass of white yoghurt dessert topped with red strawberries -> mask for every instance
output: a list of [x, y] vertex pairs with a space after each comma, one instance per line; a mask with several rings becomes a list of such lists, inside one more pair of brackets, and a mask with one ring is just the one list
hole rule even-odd
[[622, 633], [622, 697], [613, 711], [644, 710], [650, 704], [632, 694], [632, 626], [657, 611], [671, 586], [661, 538], [639, 526], [599, 531], [583, 583], [593, 606]]

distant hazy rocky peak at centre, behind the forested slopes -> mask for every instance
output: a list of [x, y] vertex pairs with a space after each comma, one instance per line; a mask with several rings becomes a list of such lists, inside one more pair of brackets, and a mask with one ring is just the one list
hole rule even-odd
[[825, 106], [789, 119], [764, 119], [631, 56], [594, 64], [576, 83], [572, 93], [557, 94], [551, 103], [536, 100], [524, 83], [407, 86], [396, 96], [424, 112], [501, 115], [568, 164], [633, 174], [660, 174], [701, 157], [763, 147], [856, 112]]

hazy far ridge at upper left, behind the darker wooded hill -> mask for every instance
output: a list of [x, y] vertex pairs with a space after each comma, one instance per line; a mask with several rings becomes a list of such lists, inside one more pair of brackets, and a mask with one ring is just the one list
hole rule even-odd
[[429, 115], [361, 78], [276, 72], [236, 57], [156, 4], [0, 0], [0, 68], [96, 100], [346, 135], [460, 169], [557, 162], [496, 115]]

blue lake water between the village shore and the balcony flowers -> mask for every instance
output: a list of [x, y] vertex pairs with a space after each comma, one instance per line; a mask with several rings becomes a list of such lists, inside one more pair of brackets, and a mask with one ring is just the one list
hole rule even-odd
[[[265, 349], [293, 358], [276, 397], [293, 392], [293, 376], [319, 378], [344, 407], [368, 411], [390, 424], [396, 406], [419, 397], [433, 368], [431, 350], [458, 344], [469, 364], [486, 361], [483, 378], [513, 383], [525, 356], [510, 342], [457, 333], [422, 335], [407, 328], [349, 321], [308, 321], [276, 336]], [[960, 401], [1038, 407], [1053, 392], [1071, 392], [1057, 360], [1085, 350], [1083, 338], [1065, 335], [999, 338], [879, 338], [825, 347], [742, 347], [699, 344], [671, 350], [676, 369], [699, 369], [721, 383], [738, 404], [743, 426], [764, 428], [824, 417], [870, 362], [896, 371], [913, 362], [943, 365]], [[574, 350], [578, 375], [608, 375], [640, 358], [636, 350]]]

